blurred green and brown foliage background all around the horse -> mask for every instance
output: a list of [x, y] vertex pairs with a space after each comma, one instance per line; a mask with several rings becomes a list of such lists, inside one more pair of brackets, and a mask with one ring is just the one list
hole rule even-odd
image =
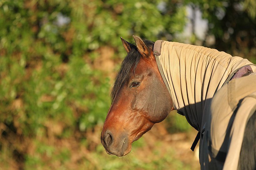
[[255, 0], [0, 0], [0, 170], [199, 169], [171, 113], [110, 156], [100, 142], [126, 52], [120, 36], [178, 41], [256, 63]]

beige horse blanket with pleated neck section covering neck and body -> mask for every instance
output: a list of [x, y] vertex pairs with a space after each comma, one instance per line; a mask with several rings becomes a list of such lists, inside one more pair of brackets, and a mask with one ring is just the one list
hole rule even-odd
[[[256, 109], [256, 66], [225, 52], [178, 42], [158, 40], [153, 51], [174, 108], [200, 132], [201, 169], [236, 169], [246, 122]], [[232, 117], [241, 99], [246, 100]], [[224, 163], [215, 161], [219, 151], [227, 154]]]

